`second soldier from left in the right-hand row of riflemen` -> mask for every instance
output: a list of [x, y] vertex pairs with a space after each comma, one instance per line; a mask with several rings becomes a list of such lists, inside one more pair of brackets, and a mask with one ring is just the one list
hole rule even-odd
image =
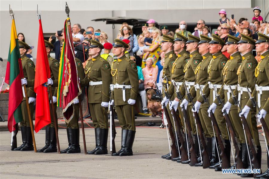
[[[190, 54], [189, 52], [186, 51], [186, 41], [188, 41], [187, 37], [183, 36], [180, 33], [176, 33], [176, 38], [174, 39], [173, 46], [174, 46], [174, 52], [177, 52], [177, 58], [171, 70], [171, 80], [175, 81], [176, 87], [174, 87], [173, 83], [169, 85], [168, 93], [170, 96], [174, 95], [174, 93], [176, 92], [175, 88], [179, 89], [184, 80], [185, 73], [183, 72], [183, 69], [190, 59]], [[175, 111], [177, 111], [178, 104], [179, 104], [179, 99], [176, 97], [170, 106], [170, 110], [173, 107]], [[183, 114], [181, 112], [181, 109], [178, 109], [178, 112], [180, 115], [182, 127], [184, 128], [185, 125], [183, 125], [184, 120], [183, 120]], [[178, 143], [180, 144], [180, 141]], [[180, 163], [181, 158], [180, 156], [177, 158], [172, 158], [172, 161], [177, 161]]]

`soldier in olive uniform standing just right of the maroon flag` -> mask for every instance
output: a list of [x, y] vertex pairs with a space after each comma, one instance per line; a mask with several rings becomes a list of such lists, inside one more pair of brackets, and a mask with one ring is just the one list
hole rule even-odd
[[80, 81], [81, 87], [89, 85], [89, 107], [95, 129], [95, 149], [87, 154], [107, 154], [108, 137], [108, 102], [111, 84], [110, 64], [100, 56], [104, 46], [98, 41], [91, 40], [89, 55], [92, 56], [85, 67], [85, 78]]

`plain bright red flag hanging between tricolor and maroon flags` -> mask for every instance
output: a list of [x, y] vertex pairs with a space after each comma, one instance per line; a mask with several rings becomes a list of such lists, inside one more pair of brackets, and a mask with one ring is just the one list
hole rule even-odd
[[[42, 30], [42, 23], [39, 19], [39, 35], [37, 44], [37, 64], [35, 74], [34, 91], [37, 93], [35, 131], [38, 132], [44, 126], [51, 123], [51, 116], [48, 102], [48, 88], [46, 82], [50, 78], [48, 56]], [[52, 101], [52, 100], [51, 100]]]

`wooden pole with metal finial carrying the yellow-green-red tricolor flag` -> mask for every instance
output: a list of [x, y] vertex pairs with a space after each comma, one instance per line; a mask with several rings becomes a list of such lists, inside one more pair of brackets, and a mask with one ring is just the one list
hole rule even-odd
[[[10, 5], [9, 5], [9, 8], [10, 8]], [[12, 20], [14, 19], [14, 13], [13, 13], [13, 10], [10, 8], [9, 10], [9, 14], [12, 18]], [[19, 62], [20, 64], [20, 70], [22, 71], [22, 62]], [[24, 77], [21, 76], [21, 79], [23, 79]], [[24, 84], [23, 85], [23, 89], [24, 89], [24, 92], [25, 92], [25, 99], [26, 99], [26, 107], [27, 107], [27, 112], [28, 112], [28, 118], [29, 118], [29, 122], [30, 122], [30, 128], [31, 128], [31, 133], [32, 133], [32, 138], [33, 138], [33, 144], [34, 144], [34, 151], [37, 152], [37, 146], [36, 146], [36, 141], [35, 141], [35, 138], [34, 138], [34, 127], [33, 127], [33, 121], [32, 121], [32, 117], [31, 117], [31, 113], [30, 113], [30, 107], [29, 107], [29, 101], [28, 101], [28, 95], [27, 95], [27, 92], [26, 92], [26, 85]]]

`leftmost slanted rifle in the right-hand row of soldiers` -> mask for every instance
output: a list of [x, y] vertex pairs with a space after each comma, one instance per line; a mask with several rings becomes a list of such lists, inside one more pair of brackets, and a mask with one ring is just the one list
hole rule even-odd
[[[156, 87], [157, 87], [157, 85], [156, 85]], [[159, 93], [159, 95], [162, 97], [162, 92], [159, 89], [157, 90], [157, 93]], [[162, 101], [163, 101], [163, 97], [162, 97]], [[167, 123], [168, 123], [168, 130], [169, 130], [170, 137], [171, 137], [171, 149], [172, 149], [171, 158], [176, 158], [176, 157], [178, 157], [178, 154], [177, 154], [177, 148], [176, 148], [176, 145], [175, 145], [176, 139], [175, 139], [175, 136], [174, 136], [174, 133], [173, 133], [173, 126], [172, 126], [172, 123], [171, 123], [171, 119], [170, 119], [170, 117], [168, 115], [168, 110], [167, 110], [167, 108], [165, 106], [165, 103], [163, 103], [162, 107], [163, 107], [163, 112], [165, 114], [165, 117], [166, 117], [166, 120], [167, 120]]]

